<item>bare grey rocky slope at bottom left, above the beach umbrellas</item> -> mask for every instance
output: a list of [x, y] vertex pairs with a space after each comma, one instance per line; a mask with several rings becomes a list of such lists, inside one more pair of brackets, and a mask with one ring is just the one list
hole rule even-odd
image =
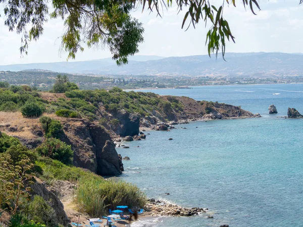
[[67, 217], [64, 211], [62, 202], [57, 197], [54, 187], [49, 187], [44, 182], [36, 179], [36, 182], [31, 186], [31, 188], [33, 189], [33, 195], [41, 196], [45, 201], [48, 202], [49, 206], [53, 207], [56, 213], [57, 219], [55, 221], [57, 223], [60, 223], [63, 226], [71, 226], [70, 219]]

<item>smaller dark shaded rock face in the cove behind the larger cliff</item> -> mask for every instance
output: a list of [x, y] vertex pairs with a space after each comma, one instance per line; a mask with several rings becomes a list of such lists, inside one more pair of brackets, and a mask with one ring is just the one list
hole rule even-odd
[[116, 118], [120, 121], [120, 125], [116, 128], [115, 133], [122, 137], [139, 134], [139, 113], [128, 113], [125, 110], [120, 110]]

